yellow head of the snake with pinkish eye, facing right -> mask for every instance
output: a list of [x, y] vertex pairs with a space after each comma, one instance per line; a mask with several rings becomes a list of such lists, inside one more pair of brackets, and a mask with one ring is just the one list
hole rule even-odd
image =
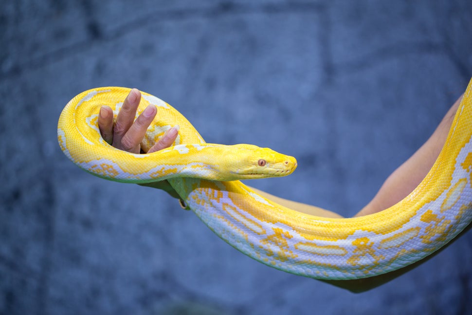
[[294, 157], [270, 148], [253, 145], [234, 145], [224, 158], [238, 179], [257, 179], [290, 175], [297, 167]]

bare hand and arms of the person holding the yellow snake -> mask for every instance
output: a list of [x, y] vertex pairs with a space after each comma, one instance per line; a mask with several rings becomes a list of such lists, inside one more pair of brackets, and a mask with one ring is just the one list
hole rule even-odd
[[[387, 178], [375, 197], [355, 215], [356, 217], [384, 210], [398, 203], [418, 186], [433, 166], [444, 142], [446, 141], [455, 112], [457, 111], [461, 99], [462, 96], [457, 99], [451, 109], [446, 113], [431, 137], [418, 149], [418, 151], [416, 151]], [[113, 114], [109, 107], [103, 106], [100, 109], [98, 117], [100, 132], [105, 141], [113, 147], [133, 153], [139, 153], [141, 151], [140, 143], [145, 135], [147, 127], [156, 116], [157, 109], [155, 106], [150, 105], [136, 120], [134, 120], [140, 100], [141, 93], [137, 89], [131, 90], [121, 111], [118, 113], [115, 122], [113, 122]], [[168, 148], [177, 138], [177, 134], [177, 128], [174, 127], [169, 129], [163, 137], [149, 149], [148, 153]], [[145, 186], [162, 189], [168, 192], [172, 197], [180, 198], [167, 181], [145, 184]], [[255, 188], [252, 189], [269, 200], [300, 212], [320, 217], [343, 218], [337, 213], [316, 206], [297, 203], [273, 196]], [[398, 271], [399, 272], [359, 280], [333, 280], [326, 282], [353, 292], [362, 292], [388, 282], [406, 272], [406, 270], [402, 271], [402, 269]]]

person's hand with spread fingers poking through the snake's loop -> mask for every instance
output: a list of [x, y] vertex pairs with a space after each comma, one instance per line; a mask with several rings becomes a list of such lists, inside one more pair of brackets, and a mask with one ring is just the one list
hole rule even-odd
[[[154, 105], [149, 105], [139, 116], [136, 117], [136, 110], [141, 101], [141, 93], [137, 89], [132, 89], [126, 97], [121, 110], [113, 122], [113, 111], [108, 106], [102, 106], [98, 115], [98, 128], [103, 139], [115, 148], [131, 152], [141, 152], [141, 141], [143, 140], [147, 127], [156, 116], [157, 109]], [[147, 153], [162, 150], [170, 147], [177, 138], [179, 129], [172, 127], [167, 130], [159, 141], [154, 144]], [[142, 184], [154, 188], [163, 189], [172, 197], [180, 198], [177, 192], [167, 181]]]

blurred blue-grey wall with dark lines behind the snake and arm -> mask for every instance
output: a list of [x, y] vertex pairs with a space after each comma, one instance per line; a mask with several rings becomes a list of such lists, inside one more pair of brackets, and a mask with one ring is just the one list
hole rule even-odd
[[471, 312], [471, 232], [356, 295], [244, 256], [164, 192], [95, 178], [56, 141], [73, 96], [136, 87], [207, 142], [298, 159], [249, 185], [352, 216], [465, 90], [470, 0], [7, 0], [0, 12], [1, 314]]

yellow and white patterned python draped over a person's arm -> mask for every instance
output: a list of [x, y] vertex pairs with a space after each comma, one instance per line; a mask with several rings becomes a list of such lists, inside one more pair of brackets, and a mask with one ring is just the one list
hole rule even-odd
[[148, 128], [147, 150], [172, 126], [175, 146], [133, 154], [108, 145], [97, 124], [99, 108], [115, 115], [126, 88], [97, 88], [75, 96], [62, 111], [62, 151], [86, 171], [112, 181], [168, 180], [184, 204], [220, 238], [271, 267], [325, 280], [366, 278], [412, 264], [451, 241], [472, 221], [472, 81], [436, 163], [418, 187], [381, 212], [350, 219], [315, 217], [275, 204], [238, 179], [284, 176], [294, 158], [251, 145], [205, 144], [169, 104], [142, 93], [159, 120]]

